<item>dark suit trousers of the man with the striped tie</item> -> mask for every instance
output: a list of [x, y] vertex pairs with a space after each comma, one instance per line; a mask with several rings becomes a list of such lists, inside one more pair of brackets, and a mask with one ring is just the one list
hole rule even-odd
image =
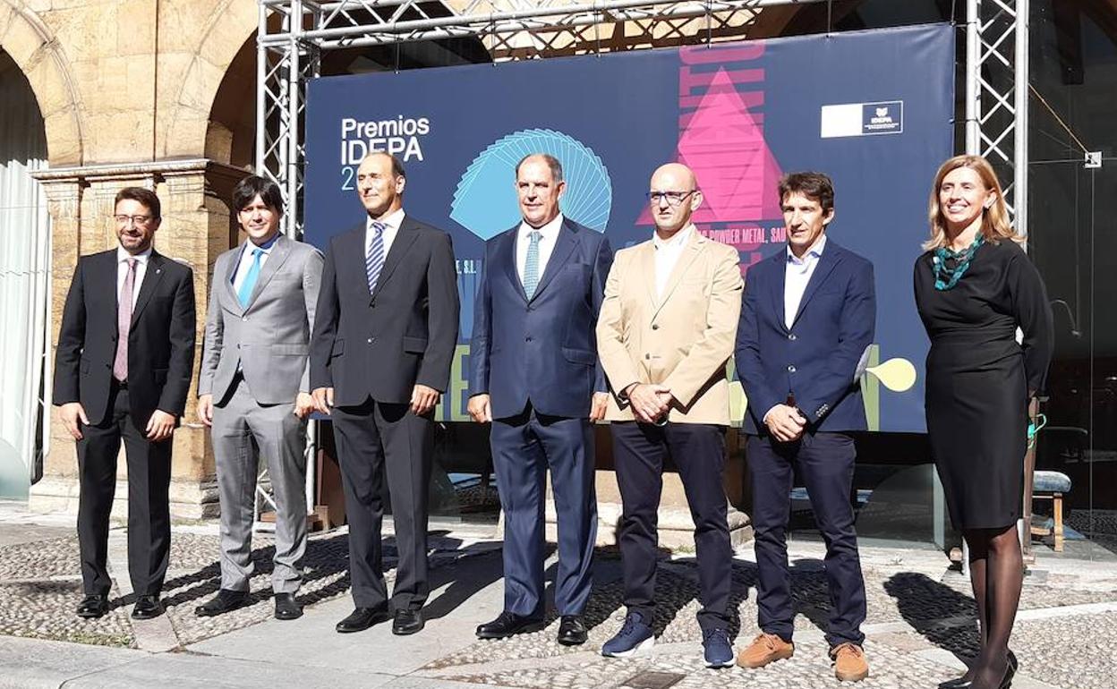
[[345, 490], [350, 580], [357, 607], [379, 607], [388, 601], [380, 542], [385, 479], [399, 551], [392, 606], [420, 610], [430, 594], [427, 490], [435, 448], [432, 413], [417, 417], [407, 404], [369, 399], [357, 406], [335, 406], [331, 414]]

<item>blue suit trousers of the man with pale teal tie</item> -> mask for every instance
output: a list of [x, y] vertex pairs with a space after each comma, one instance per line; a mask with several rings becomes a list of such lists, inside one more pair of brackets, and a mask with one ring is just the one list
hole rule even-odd
[[598, 498], [593, 489], [593, 424], [535, 413], [495, 419], [489, 436], [504, 509], [504, 609], [542, 618], [546, 476], [558, 517], [555, 609], [580, 615], [590, 599]]

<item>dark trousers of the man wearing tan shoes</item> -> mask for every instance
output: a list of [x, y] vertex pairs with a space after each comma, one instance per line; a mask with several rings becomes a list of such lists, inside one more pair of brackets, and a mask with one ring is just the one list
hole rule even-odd
[[830, 586], [830, 629], [833, 648], [865, 641], [865, 580], [853, 529], [853, 460], [857, 449], [846, 433], [804, 433], [795, 442], [773, 442], [750, 436], [748, 470], [753, 478], [753, 528], [755, 529], [758, 582], [756, 606], [760, 626], [791, 641], [795, 604], [787, 570], [787, 519], [794, 470], [806, 485], [814, 520], [827, 544], [823, 561]]

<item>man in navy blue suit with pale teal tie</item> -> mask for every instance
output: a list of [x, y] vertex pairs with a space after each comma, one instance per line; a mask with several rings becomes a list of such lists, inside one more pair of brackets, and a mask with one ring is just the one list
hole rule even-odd
[[490, 239], [474, 314], [469, 414], [493, 422], [493, 466], [504, 509], [504, 611], [477, 628], [499, 639], [543, 625], [546, 472], [558, 518], [558, 642], [584, 643], [596, 538], [593, 421], [609, 395], [594, 324], [612, 250], [603, 235], [563, 218], [562, 165], [528, 155], [516, 166], [523, 221]]

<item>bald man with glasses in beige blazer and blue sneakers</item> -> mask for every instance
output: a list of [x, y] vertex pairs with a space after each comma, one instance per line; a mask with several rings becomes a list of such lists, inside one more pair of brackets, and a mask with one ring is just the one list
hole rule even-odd
[[663, 461], [679, 469], [695, 546], [706, 664], [733, 664], [728, 604], [729, 527], [722, 487], [733, 354], [741, 314], [739, 257], [701, 236], [694, 173], [670, 163], [648, 192], [656, 232], [617, 252], [598, 318], [598, 351], [612, 395], [613, 459], [623, 514], [620, 548], [628, 616], [602, 654], [627, 657], [655, 644], [656, 514]]

